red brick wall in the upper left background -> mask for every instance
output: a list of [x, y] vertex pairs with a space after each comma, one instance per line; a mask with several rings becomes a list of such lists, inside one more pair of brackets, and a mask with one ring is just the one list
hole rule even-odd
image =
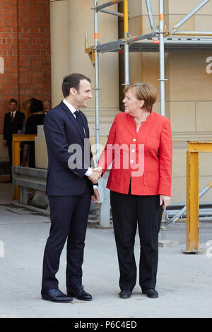
[[51, 97], [50, 61], [49, 0], [1, 1], [0, 134], [11, 97]]

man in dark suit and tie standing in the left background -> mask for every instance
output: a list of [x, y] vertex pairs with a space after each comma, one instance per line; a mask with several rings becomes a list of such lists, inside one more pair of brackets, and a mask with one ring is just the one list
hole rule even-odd
[[13, 163], [13, 153], [12, 153], [12, 141], [13, 134], [20, 134], [23, 126], [24, 114], [17, 111], [17, 100], [11, 99], [9, 101], [10, 112], [6, 113], [4, 116], [4, 146], [8, 147], [8, 155], [10, 161], [10, 174], [12, 182], [12, 163]]

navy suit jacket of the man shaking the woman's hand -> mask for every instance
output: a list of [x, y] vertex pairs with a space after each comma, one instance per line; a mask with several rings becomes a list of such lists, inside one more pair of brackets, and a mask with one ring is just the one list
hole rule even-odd
[[[64, 102], [45, 115], [44, 131], [49, 158], [47, 195], [81, 195], [87, 184], [93, 194], [93, 184], [85, 175], [92, 165], [88, 121], [83, 112], [80, 111], [80, 114], [86, 137], [81, 134], [78, 121]], [[84, 138], [87, 138], [86, 146]]]

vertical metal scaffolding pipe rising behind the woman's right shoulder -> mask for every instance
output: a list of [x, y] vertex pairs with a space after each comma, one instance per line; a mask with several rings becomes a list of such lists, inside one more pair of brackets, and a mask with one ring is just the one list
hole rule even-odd
[[160, 114], [165, 116], [165, 51], [164, 51], [164, 1], [159, 0], [160, 34]]

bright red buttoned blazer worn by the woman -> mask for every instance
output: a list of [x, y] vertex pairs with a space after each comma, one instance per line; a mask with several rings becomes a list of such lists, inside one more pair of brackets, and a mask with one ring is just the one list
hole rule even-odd
[[107, 188], [128, 194], [171, 196], [172, 133], [170, 120], [151, 112], [141, 124], [129, 114], [114, 119], [98, 166], [102, 175], [112, 163]]

